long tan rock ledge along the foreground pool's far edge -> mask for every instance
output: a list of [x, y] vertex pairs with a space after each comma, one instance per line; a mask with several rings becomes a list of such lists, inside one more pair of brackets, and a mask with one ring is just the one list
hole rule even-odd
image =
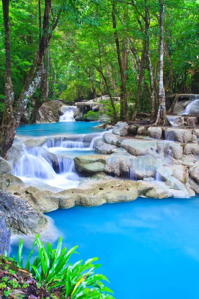
[[[75, 205], [98, 206], [103, 203], [132, 201], [139, 196], [145, 196], [152, 188], [160, 194], [158, 198], [162, 198], [163, 194], [158, 192], [160, 187], [157, 184], [113, 179], [95, 182], [90, 186], [85, 184], [82, 188], [65, 190], [56, 196], [59, 198], [60, 208], [66, 209]], [[165, 192], [165, 196], [167, 195]]]

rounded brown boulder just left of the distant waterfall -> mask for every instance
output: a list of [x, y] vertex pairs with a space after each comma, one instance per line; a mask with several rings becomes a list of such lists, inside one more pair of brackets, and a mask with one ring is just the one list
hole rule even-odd
[[42, 104], [38, 112], [37, 123], [55, 123], [59, 122], [64, 104], [58, 100], [52, 100]]

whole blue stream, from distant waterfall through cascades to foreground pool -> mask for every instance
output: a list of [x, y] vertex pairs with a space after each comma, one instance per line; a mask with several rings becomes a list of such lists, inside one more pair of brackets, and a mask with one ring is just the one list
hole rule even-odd
[[[75, 122], [65, 111], [61, 122], [21, 125], [17, 136], [44, 137], [100, 133], [99, 123]], [[18, 141], [16, 141], [17, 143]], [[48, 151], [58, 157], [59, 169], [43, 157]], [[82, 140], [49, 140], [40, 148], [23, 147], [15, 175], [26, 183], [58, 189], [78, 186], [74, 169], [77, 155], [94, 154], [92, 144]], [[107, 276], [116, 299], [199, 298], [199, 196], [193, 198], [138, 198], [132, 202], [98, 207], [73, 207], [47, 214], [56, 236], [64, 245], [79, 245], [80, 259], [98, 257], [100, 273]], [[11, 247], [16, 255], [17, 243]], [[56, 246], [57, 240], [53, 240]], [[27, 255], [28, 248], [25, 249]]]

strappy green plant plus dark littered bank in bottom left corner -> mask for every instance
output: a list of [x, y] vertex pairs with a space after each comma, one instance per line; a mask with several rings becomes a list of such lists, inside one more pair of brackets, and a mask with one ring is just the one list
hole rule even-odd
[[[113, 292], [102, 281], [108, 282], [101, 274], [95, 274], [100, 264], [92, 258], [75, 264], [69, 262], [77, 246], [62, 248], [60, 237], [57, 248], [46, 246], [39, 235], [33, 243], [23, 269], [23, 240], [20, 240], [18, 261], [15, 257], [0, 257], [0, 297], [19, 299], [114, 299]], [[35, 255], [34, 250], [37, 250]]]

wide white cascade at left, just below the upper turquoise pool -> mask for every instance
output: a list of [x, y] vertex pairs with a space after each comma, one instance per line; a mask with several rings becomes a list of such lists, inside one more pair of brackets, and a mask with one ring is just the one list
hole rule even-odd
[[[50, 140], [50, 144], [54, 144]], [[27, 149], [25, 145], [22, 146], [23, 154], [18, 163], [14, 167], [14, 174], [20, 177], [27, 184], [45, 184], [59, 189], [75, 188], [79, 184], [79, 176], [75, 173], [74, 161], [72, 158], [58, 157], [57, 162], [48, 161], [42, 154], [48, 153], [44, 147], [35, 147]], [[56, 155], [54, 154], [54, 157]], [[58, 163], [56, 171], [53, 169], [53, 164]]]

